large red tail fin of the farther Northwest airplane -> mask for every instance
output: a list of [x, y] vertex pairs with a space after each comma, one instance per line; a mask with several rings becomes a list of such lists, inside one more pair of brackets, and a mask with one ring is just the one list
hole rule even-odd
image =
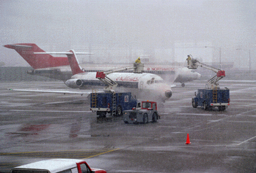
[[7, 44], [4, 45], [4, 47], [16, 50], [16, 52], [18, 52], [18, 54], [20, 54], [34, 69], [69, 65], [67, 57], [53, 57], [49, 54], [34, 54], [34, 52], [44, 52], [44, 50], [33, 43]]

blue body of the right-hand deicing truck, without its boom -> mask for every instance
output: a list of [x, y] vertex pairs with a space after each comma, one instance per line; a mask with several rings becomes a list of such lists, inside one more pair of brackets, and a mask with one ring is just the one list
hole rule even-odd
[[229, 106], [229, 89], [197, 89], [196, 97], [192, 98], [192, 106], [202, 106], [204, 110], [217, 107], [219, 111], [224, 111]]

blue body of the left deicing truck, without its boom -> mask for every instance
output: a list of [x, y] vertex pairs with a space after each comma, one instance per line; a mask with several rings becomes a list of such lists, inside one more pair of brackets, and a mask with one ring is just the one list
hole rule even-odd
[[97, 117], [122, 116], [124, 110], [136, 107], [137, 100], [131, 92], [92, 92], [90, 110], [97, 113]]

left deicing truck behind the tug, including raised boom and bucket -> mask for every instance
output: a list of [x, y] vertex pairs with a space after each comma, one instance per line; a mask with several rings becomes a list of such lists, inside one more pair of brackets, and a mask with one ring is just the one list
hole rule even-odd
[[116, 93], [114, 88], [117, 82], [108, 78], [107, 75], [113, 72], [133, 69], [134, 73], [142, 73], [144, 65], [142, 63], [134, 63], [133, 66], [113, 69], [105, 72], [97, 72], [96, 78], [104, 82], [107, 87], [104, 88], [105, 93], [91, 93], [91, 111], [96, 111], [98, 117], [106, 117], [107, 113], [112, 116], [122, 116], [124, 110], [130, 110], [136, 106], [137, 100], [132, 97], [130, 92]]

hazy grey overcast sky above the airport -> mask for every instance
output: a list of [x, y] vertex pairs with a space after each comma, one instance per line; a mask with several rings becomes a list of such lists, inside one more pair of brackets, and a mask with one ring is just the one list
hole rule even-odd
[[[97, 62], [130, 62], [155, 55], [183, 62], [186, 55], [223, 61], [255, 59], [256, 1], [0, 1], [1, 44], [36, 43], [46, 51], [85, 51]], [[212, 47], [205, 47], [212, 46]], [[238, 48], [244, 50], [236, 50]], [[0, 62], [27, 65], [0, 47]], [[88, 60], [88, 57], [85, 57]], [[251, 62], [255, 65], [255, 62]], [[252, 65], [251, 65], [252, 66]]]

